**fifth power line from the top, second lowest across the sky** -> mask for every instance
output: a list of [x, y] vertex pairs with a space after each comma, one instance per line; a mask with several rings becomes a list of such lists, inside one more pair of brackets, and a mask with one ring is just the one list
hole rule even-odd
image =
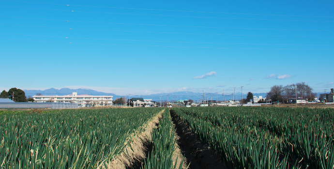
[[18, 34], [18, 33], [0, 33], [0, 34], [41, 36], [41, 37], [53, 37], [53, 38], [66, 38], [66, 39], [74, 38], [74, 39], [113, 40], [113, 41], [139, 41], [139, 42], [178, 42], [178, 43], [209, 43], [209, 44], [334, 46], [333, 44], [271, 44], [271, 43], [228, 43], [228, 42], [180, 42], [180, 41], [125, 40], [125, 39], [103, 39], [103, 38], [77, 38], [77, 37], [61, 37], [61, 36], [46, 36], [46, 35], [27, 35], [27, 34]]

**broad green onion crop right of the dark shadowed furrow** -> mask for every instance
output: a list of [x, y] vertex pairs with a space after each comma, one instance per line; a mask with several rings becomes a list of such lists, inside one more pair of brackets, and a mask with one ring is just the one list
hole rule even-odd
[[229, 169], [333, 169], [334, 112], [307, 108], [173, 108]]

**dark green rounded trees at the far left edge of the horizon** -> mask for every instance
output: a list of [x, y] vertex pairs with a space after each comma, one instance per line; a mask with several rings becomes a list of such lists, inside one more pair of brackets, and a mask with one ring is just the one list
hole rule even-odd
[[[14, 97], [14, 99], [13, 99]], [[35, 101], [33, 98], [31, 98], [31, 96], [29, 96], [28, 98], [26, 97], [26, 94], [24, 93], [23, 90], [18, 89], [16, 87], [13, 87], [11, 89], [8, 90], [8, 92], [6, 90], [3, 90], [0, 93], [0, 98], [1, 99], [11, 99], [15, 102], [27, 102], [27, 101]]]

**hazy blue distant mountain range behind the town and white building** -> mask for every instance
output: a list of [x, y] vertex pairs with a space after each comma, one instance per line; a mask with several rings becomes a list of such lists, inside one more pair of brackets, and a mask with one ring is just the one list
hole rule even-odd
[[[61, 88], [61, 89], [55, 89], [55, 88], [50, 88], [46, 90], [24, 90], [26, 93], [26, 96], [34, 96], [37, 93], [41, 93], [42, 95], [58, 95], [58, 96], [63, 96], [63, 95], [69, 95], [72, 94], [73, 92], [77, 92], [78, 95], [109, 95], [113, 96], [114, 100], [116, 98], [122, 97], [119, 95], [115, 95], [113, 93], [105, 93], [105, 92], [99, 92], [91, 89], [85, 89], [85, 88], [79, 88], [79, 89], [69, 89], [69, 88]], [[168, 95], [168, 97], [167, 97]], [[188, 91], [182, 91], [182, 92], [172, 92], [172, 93], [157, 93], [157, 94], [152, 94], [152, 95], [130, 95], [130, 98], [144, 98], [144, 99], [152, 99], [152, 101], [159, 101], [161, 100], [185, 100], [185, 99], [192, 99], [192, 100], [200, 100], [202, 98], [203, 93], [196, 93], [196, 92], [188, 92]], [[207, 97], [209, 100], [211, 100], [211, 97], [213, 100], [216, 100], [216, 93], [204, 93], [205, 97]], [[266, 93], [253, 93], [254, 96], [262, 96], [265, 97]], [[128, 95], [127, 95], [128, 96]], [[236, 92], [235, 93], [236, 99], [240, 100], [241, 99], [241, 92]], [[247, 96], [246, 93], [243, 93], [243, 98], [245, 99]], [[223, 100], [224, 96], [222, 94], [217, 95], [218, 100]], [[206, 98], [206, 99], [207, 99]], [[234, 98], [234, 97], [233, 97]], [[233, 99], [232, 95], [225, 95], [225, 100]]]

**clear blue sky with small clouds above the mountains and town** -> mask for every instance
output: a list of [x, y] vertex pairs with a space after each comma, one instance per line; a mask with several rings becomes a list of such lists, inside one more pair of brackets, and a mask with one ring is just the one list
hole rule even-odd
[[259, 93], [306, 82], [322, 92], [334, 87], [326, 71], [333, 7], [331, 0], [0, 0], [0, 90], [143, 95], [243, 85]]

